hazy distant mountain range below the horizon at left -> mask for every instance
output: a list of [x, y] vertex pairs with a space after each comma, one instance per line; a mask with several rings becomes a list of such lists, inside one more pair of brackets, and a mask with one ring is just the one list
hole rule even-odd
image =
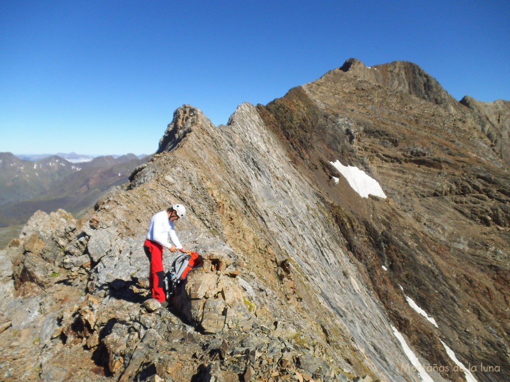
[[[66, 156], [64, 158], [63, 156]], [[37, 210], [87, 210], [108, 189], [128, 181], [150, 156], [0, 153], [0, 229], [24, 224]], [[77, 161], [81, 160], [81, 161]], [[5, 231], [5, 230], [4, 230]], [[2, 232], [0, 241], [7, 240]]]

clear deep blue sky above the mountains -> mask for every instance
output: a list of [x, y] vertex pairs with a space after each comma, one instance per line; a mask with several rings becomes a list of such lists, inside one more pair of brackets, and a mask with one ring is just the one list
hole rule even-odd
[[509, 2], [1, 0], [0, 151], [152, 153], [182, 104], [224, 124], [351, 57], [510, 100]]

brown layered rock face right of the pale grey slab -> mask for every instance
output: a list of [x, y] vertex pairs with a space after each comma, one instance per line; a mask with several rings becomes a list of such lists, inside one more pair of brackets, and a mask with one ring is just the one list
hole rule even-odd
[[[397, 328], [431, 363], [453, 370], [439, 342], [446, 336], [480, 371], [508, 365], [508, 102], [465, 98], [472, 110], [454, 102], [413, 64], [349, 60], [259, 112], [313, 179]], [[339, 176], [328, 166], [336, 159], [377, 179], [389, 199], [362, 201], [345, 183], [328, 183]]]

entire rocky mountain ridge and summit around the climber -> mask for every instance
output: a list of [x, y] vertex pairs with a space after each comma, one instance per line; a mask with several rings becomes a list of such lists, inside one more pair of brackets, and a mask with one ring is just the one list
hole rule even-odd
[[[0, 379], [509, 380], [509, 121], [354, 59], [227, 125], [180, 107], [129, 183], [0, 251]], [[142, 244], [176, 202], [205, 260], [164, 308]]]

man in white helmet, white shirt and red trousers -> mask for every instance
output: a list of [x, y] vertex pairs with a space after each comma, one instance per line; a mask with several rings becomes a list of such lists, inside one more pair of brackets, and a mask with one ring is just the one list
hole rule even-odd
[[[174, 204], [166, 211], [156, 213], [150, 219], [147, 238], [143, 243], [143, 250], [150, 261], [149, 287], [152, 298], [157, 299], [160, 303], [166, 302], [163, 248], [167, 248], [172, 253], [177, 250], [186, 252], [177, 238], [173, 225], [184, 215], [186, 215], [186, 208], [182, 204]], [[168, 241], [168, 236], [173, 244]]]

